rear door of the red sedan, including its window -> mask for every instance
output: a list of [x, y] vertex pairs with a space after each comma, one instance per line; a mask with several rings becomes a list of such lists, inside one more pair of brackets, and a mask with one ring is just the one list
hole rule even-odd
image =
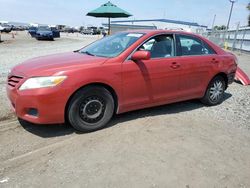
[[191, 35], [176, 35], [180, 71], [179, 89], [181, 98], [202, 97], [213, 69], [218, 64], [217, 56], [204, 41]]

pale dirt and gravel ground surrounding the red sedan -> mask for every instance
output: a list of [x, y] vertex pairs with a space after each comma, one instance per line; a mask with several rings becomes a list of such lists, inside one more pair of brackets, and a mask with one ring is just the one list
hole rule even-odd
[[[193, 100], [134, 111], [88, 134], [10, 118], [4, 89], [10, 67], [97, 38], [38, 42], [20, 33], [0, 44], [0, 187], [250, 187], [249, 86], [230, 85], [219, 106]], [[249, 61], [239, 55], [250, 76]]]

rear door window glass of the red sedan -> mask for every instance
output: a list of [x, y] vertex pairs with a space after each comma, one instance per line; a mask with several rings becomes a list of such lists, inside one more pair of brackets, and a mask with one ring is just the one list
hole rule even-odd
[[212, 50], [206, 43], [195, 37], [180, 35], [179, 43], [178, 55], [215, 54], [214, 50]]

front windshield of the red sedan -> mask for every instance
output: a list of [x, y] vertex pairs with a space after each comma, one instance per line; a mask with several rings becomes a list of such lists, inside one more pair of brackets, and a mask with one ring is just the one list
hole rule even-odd
[[114, 34], [84, 47], [79, 52], [93, 56], [116, 57], [142, 36], [143, 33]]

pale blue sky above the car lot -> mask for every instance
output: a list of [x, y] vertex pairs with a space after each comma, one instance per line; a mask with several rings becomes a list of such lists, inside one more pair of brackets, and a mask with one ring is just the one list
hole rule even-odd
[[[103, 18], [85, 16], [107, 0], [0, 0], [0, 20], [43, 24], [66, 24], [70, 26], [101, 25]], [[167, 18], [197, 22], [211, 27], [214, 14], [215, 25], [226, 25], [230, 3], [228, 0], [112, 0], [112, 3], [133, 14], [132, 19]], [[235, 3], [231, 25], [240, 21], [247, 24], [248, 0]]]

